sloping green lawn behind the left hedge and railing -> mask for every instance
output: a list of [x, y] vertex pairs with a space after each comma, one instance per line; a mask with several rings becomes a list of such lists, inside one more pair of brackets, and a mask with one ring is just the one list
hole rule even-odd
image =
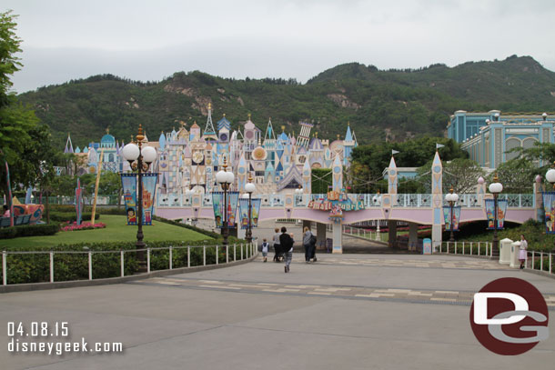
[[[104, 229], [58, 232], [56, 235], [28, 236], [15, 239], [1, 239], [0, 249], [9, 247], [54, 246], [60, 244], [125, 242], [136, 240], [137, 226], [126, 225], [125, 215], [101, 215], [96, 222], [106, 224]], [[153, 225], [143, 226], [145, 243], [164, 240], [200, 241], [210, 239], [209, 236], [196, 231], [165, 224], [153, 220]]]

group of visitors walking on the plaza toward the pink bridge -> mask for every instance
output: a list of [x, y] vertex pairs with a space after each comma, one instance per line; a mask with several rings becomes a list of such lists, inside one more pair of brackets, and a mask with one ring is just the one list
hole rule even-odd
[[[285, 261], [284, 270], [287, 274], [290, 271], [291, 259], [293, 258], [294, 235], [293, 233], [288, 234], [288, 229], [285, 226], [281, 227], [281, 230], [276, 227], [274, 231], [275, 234], [272, 236], [272, 246], [275, 252], [274, 262]], [[316, 235], [312, 234], [308, 226], [304, 228], [302, 241], [305, 248], [305, 261], [307, 264], [310, 263], [310, 260], [316, 262], [318, 260], [316, 258]], [[267, 238], [264, 238], [262, 243], [264, 262], [267, 262], [269, 246]]]

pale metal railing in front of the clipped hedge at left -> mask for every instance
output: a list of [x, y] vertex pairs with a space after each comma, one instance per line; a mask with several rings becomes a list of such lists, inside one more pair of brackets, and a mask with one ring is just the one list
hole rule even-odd
[[[192, 265], [191, 264], [191, 250], [202, 249], [202, 264]], [[47, 282], [54, 283], [55, 281], [72, 281], [72, 280], [55, 280], [55, 255], [86, 255], [87, 256], [87, 271], [88, 280], [94, 279], [94, 256], [95, 255], [106, 255], [106, 254], [119, 254], [119, 274], [106, 277], [124, 277], [126, 276], [126, 254], [133, 254], [138, 251], [146, 251], [146, 274], [151, 272], [152, 268], [152, 256], [154, 253], [159, 251], [167, 251], [167, 268], [156, 268], [156, 271], [160, 270], [173, 270], [176, 267], [174, 265], [174, 253], [178, 250], [187, 249], [187, 268], [192, 266], [206, 266], [207, 265], [207, 248], [215, 249], [215, 263], [208, 265], [220, 265], [228, 264], [230, 257], [232, 256], [232, 261], [240, 261], [252, 257], [257, 253], [257, 244], [255, 242], [250, 244], [234, 244], [227, 245], [225, 252], [220, 255], [220, 248], [222, 245], [178, 245], [178, 246], [166, 246], [166, 247], [156, 247], [156, 248], [143, 248], [143, 249], [125, 249], [125, 250], [113, 250], [113, 251], [2, 251], [2, 285], [8, 285], [8, 255], [48, 255], [48, 271], [49, 280]], [[63, 265], [64, 269], [71, 269], [72, 266]], [[74, 266], [76, 268], [76, 266]], [[185, 267], [185, 265], [183, 265]], [[152, 270], [154, 271], [154, 270]], [[133, 274], [128, 274], [133, 275]], [[75, 280], [75, 279], [74, 279]], [[85, 279], [77, 279], [85, 280]], [[27, 282], [29, 283], [29, 282]], [[17, 283], [25, 284], [25, 283]], [[15, 284], [14, 284], [15, 285]]]

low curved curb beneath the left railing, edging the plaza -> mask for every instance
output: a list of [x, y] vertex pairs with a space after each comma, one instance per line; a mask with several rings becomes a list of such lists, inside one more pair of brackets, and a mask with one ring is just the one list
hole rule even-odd
[[157, 270], [146, 274], [128, 275], [123, 277], [122, 276], [106, 277], [106, 278], [95, 279], [95, 280], [71, 280], [71, 281], [61, 281], [61, 282], [54, 282], [54, 283], [0, 285], [0, 294], [15, 293], [15, 292], [30, 292], [35, 290], [48, 290], [48, 289], [60, 289], [60, 288], [76, 288], [76, 287], [82, 287], [82, 286], [122, 284], [129, 281], [149, 279], [151, 277], [197, 273], [199, 271], [216, 270], [218, 268], [245, 265], [251, 262], [252, 260], [254, 260], [255, 258], [257, 258], [258, 254], [259, 253], [241, 261], [229, 262], [227, 264], [179, 267], [171, 270]]

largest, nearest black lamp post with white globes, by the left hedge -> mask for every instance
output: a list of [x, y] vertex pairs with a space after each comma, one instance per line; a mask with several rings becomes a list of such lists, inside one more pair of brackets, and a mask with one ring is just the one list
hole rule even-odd
[[[124, 158], [129, 162], [132, 171], [136, 171], [138, 175], [138, 194], [136, 197], [136, 224], [138, 226], [136, 231], [136, 249], [145, 248], [145, 243], [143, 242], [145, 237], [143, 234], [143, 173], [146, 172], [149, 165], [156, 160], [156, 149], [152, 146], [143, 147], [143, 140], [145, 140], [143, 127], [139, 125], [136, 142], [127, 144], [123, 149]], [[136, 259], [139, 263], [139, 272], [145, 272], [145, 251], [137, 251]]]

